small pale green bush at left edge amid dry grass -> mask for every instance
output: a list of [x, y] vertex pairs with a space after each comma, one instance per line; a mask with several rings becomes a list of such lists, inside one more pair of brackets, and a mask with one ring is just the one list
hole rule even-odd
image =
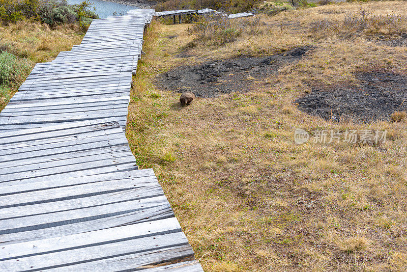
[[0, 51], [0, 87], [10, 88], [17, 86], [24, 80], [30, 65], [18, 59], [14, 54]]

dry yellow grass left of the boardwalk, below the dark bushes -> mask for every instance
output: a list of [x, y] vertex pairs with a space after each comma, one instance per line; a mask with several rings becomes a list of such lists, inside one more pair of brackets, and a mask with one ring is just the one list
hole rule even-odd
[[[61, 51], [70, 50], [72, 45], [79, 44], [83, 33], [77, 25], [62, 25], [50, 29], [46, 24], [27, 21], [9, 26], [0, 26], [0, 50], [6, 50], [34, 67], [37, 62], [48, 62]], [[0, 111], [23, 83], [31, 69], [20, 71], [14, 86], [8, 86], [0, 93]]]

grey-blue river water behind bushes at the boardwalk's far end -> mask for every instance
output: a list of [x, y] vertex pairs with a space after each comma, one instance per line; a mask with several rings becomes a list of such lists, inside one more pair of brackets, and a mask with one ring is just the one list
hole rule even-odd
[[[67, 2], [70, 5], [74, 5], [82, 3], [83, 0], [68, 0]], [[125, 15], [126, 12], [128, 12], [131, 9], [133, 10], [138, 9], [135, 6], [127, 6], [101, 0], [91, 0], [90, 2], [93, 3], [90, 9], [97, 13], [99, 15], [99, 18], [106, 18], [108, 16], [112, 16], [113, 12], [116, 12], [117, 15]], [[94, 10], [93, 8], [95, 8], [96, 10]]]

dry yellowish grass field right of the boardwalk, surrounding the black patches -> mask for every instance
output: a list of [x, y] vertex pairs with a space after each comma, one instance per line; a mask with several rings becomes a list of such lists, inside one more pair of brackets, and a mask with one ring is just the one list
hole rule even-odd
[[[156, 23], [146, 37], [127, 136], [138, 165], [154, 168], [206, 270], [405, 270], [406, 123], [331, 124], [293, 104], [309, 81], [355, 81], [354, 72], [371, 66], [405, 73], [405, 48], [308, 31], [316, 19], [342, 20], [360, 8], [329, 5], [264, 17], [262, 34], [224, 47], [200, 44], [190, 58], [176, 56], [193, 39], [185, 32], [189, 25]], [[405, 14], [407, 3], [362, 8]], [[249, 93], [181, 108], [178, 94], [154, 86], [159, 73], [202, 56], [263, 55], [304, 44], [315, 49], [277, 78], [252, 79]], [[296, 127], [389, 134], [381, 148], [295, 145]]]

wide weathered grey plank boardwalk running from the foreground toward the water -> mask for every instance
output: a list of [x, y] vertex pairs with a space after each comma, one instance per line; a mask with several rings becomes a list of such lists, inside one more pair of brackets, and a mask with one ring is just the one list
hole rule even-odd
[[0, 113], [0, 271], [202, 271], [123, 132], [153, 13], [94, 20]]

